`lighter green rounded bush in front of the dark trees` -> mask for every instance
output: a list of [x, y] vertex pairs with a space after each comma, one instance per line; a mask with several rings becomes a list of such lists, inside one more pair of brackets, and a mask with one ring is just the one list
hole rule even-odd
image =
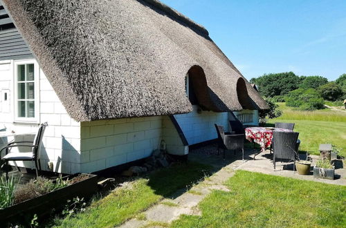
[[318, 91], [313, 88], [298, 88], [286, 95], [285, 99], [286, 106], [297, 107], [303, 111], [322, 109], [325, 104]]

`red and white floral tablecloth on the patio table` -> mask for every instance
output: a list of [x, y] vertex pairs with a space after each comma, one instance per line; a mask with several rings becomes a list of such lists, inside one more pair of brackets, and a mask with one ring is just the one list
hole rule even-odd
[[262, 150], [264, 151], [271, 145], [271, 140], [273, 139], [273, 130], [291, 132], [291, 130], [288, 129], [268, 129], [261, 126], [255, 126], [245, 129], [245, 137], [246, 140], [249, 140], [250, 142], [260, 144]]

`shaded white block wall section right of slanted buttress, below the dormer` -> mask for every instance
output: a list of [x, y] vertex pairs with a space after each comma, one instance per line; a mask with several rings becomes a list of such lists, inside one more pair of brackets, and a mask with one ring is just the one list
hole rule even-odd
[[191, 113], [174, 115], [189, 145], [217, 138], [214, 124], [222, 125], [225, 131], [228, 131], [228, 113], [212, 111], [197, 113], [197, 109], [198, 106], [194, 105]]

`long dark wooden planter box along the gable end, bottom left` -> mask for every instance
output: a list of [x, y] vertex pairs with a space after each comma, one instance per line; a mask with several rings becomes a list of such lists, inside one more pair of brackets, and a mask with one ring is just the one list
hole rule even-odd
[[[93, 174], [84, 175], [89, 175], [89, 178], [62, 189], [51, 191], [45, 195], [20, 202], [17, 205], [0, 209], [0, 224], [3, 224], [3, 222], [23, 222], [25, 218], [33, 218], [35, 214], [37, 214], [38, 218], [42, 218], [48, 216], [52, 209], [62, 209], [67, 204], [67, 200], [72, 200], [77, 196], [79, 198], [91, 197], [98, 189], [98, 176]], [[70, 175], [66, 178], [71, 180], [75, 176]]]

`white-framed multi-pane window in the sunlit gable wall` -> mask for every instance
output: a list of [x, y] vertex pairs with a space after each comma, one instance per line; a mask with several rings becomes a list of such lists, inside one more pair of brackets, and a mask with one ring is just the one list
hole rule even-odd
[[39, 74], [35, 61], [15, 62], [15, 120], [38, 122]]

